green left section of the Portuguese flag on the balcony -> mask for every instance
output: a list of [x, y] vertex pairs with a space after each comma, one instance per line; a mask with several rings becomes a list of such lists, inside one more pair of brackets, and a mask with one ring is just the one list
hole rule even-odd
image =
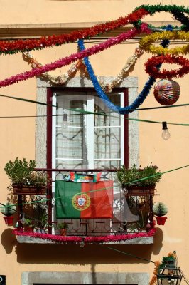
[[55, 180], [56, 218], [80, 218], [80, 211], [72, 206], [72, 197], [81, 192], [81, 183]]

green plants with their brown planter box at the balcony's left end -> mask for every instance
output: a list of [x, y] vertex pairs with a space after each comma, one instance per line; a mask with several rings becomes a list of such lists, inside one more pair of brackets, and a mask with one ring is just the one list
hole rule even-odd
[[48, 175], [43, 171], [35, 171], [35, 160], [16, 160], [6, 163], [4, 170], [11, 180], [13, 194], [44, 195], [48, 187]]

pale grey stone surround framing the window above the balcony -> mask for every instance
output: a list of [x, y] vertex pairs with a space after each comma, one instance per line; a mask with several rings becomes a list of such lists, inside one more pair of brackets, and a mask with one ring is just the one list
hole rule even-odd
[[[109, 83], [113, 77], [101, 77], [105, 83]], [[46, 103], [47, 100], [47, 88], [57, 87], [52, 86], [46, 81], [42, 81], [40, 78], [37, 79], [37, 101]], [[60, 87], [60, 86], [59, 86]], [[68, 88], [93, 88], [92, 81], [88, 78], [80, 77], [72, 78], [64, 86]], [[134, 102], [138, 96], [138, 78], [127, 77], [119, 84], [120, 88], [128, 88], [129, 105]], [[37, 105], [37, 115], [46, 115], [46, 106]], [[129, 113], [129, 118], [138, 118], [138, 111]], [[45, 168], [46, 167], [46, 118], [36, 118], [36, 166]], [[129, 120], [129, 167], [136, 164], [139, 166], [139, 122]]]

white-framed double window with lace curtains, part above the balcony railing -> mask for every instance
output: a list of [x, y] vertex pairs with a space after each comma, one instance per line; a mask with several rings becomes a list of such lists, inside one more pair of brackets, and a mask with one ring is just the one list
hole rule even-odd
[[[111, 94], [111, 100], [123, 105], [124, 93]], [[53, 105], [53, 168], [105, 170], [124, 164], [124, 120], [94, 92], [55, 92]]]

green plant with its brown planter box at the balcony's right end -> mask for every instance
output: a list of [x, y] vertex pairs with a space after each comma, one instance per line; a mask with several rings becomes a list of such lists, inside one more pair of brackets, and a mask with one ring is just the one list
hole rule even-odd
[[143, 169], [136, 168], [136, 165], [128, 169], [123, 165], [116, 172], [116, 177], [126, 195], [154, 195], [156, 183], [161, 180], [161, 172], [156, 165]]

